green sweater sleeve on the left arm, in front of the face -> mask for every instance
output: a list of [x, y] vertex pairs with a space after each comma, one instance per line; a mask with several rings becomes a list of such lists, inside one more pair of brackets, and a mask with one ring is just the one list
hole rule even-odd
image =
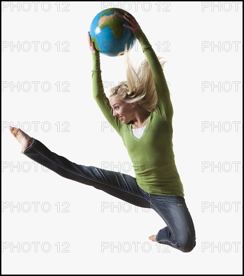
[[101, 70], [100, 70], [100, 56], [99, 53], [92, 53], [92, 90], [93, 98], [95, 99], [97, 105], [102, 111], [103, 115], [111, 126], [117, 131], [120, 135], [120, 126], [121, 122], [117, 117], [113, 116], [112, 107], [109, 104], [109, 100], [104, 93], [102, 79], [101, 79]]

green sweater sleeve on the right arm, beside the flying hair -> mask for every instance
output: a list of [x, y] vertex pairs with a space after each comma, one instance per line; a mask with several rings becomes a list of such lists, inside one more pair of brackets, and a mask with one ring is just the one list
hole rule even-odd
[[135, 36], [142, 46], [143, 53], [145, 54], [153, 73], [154, 83], [158, 95], [158, 103], [155, 111], [158, 112], [159, 115], [165, 115], [168, 120], [171, 120], [173, 116], [173, 107], [163, 68], [142, 29], [137, 30], [135, 32]]

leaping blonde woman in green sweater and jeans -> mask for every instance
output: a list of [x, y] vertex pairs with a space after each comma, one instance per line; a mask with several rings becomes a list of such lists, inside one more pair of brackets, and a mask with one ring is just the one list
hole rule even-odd
[[[19, 128], [10, 127], [22, 153], [57, 174], [78, 181], [136, 206], [154, 209], [167, 224], [152, 241], [182, 252], [195, 247], [195, 230], [176, 169], [172, 145], [173, 108], [162, 66], [136, 19], [126, 13], [147, 58], [135, 73], [127, 58], [127, 82], [103, 91], [99, 53], [91, 43], [93, 97], [106, 119], [123, 139], [136, 178], [93, 166], [77, 165], [51, 152]], [[126, 55], [127, 56], [127, 55]], [[151, 69], [150, 69], [151, 68]]]

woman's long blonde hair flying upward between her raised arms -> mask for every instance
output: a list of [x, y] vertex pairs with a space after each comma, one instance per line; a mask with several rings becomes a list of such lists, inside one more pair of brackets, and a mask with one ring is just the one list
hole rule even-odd
[[[163, 68], [167, 61], [162, 60], [161, 57], [158, 59]], [[121, 100], [137, 103], [149, 112], [153, 112], [158, 102], [158, 96], [153, 73], [147, 59], [136, 70], [130, 60], [129, 51], [126, 50], [125, 64], [127, 81], [122, 81], [119, 85], [112, 87], [108, 92], [109, 97], [117, 96]]]

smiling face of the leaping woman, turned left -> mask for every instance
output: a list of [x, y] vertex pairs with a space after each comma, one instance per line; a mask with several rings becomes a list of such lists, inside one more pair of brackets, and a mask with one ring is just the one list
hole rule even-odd
[[113, 116], [118, 117], [121, 122], [129, 123], [132, 119], [134, 119], [135, 109], [133, 106], [135, 104], [120, 100], [116, 96], [111, 96], [109, 98], [109, 103], [113, 110]]

